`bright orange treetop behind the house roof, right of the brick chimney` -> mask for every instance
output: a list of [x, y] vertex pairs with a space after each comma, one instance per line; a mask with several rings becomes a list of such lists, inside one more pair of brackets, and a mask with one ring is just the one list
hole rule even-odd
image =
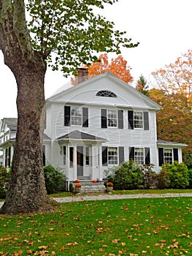
[[[87, 67], [87, 66], [83, 66]], [[99, 62], [93, 62], [91, 66], [88, 67], [88, 76], [93, 78], [96, 75], [101, 75], [104, 72], [111, 72], [113, 75], [117, 76], [126, 83], [131, 83], [133, 78], [130, 73], [130, 67], [127, 61], [123, 59], [123, 56], [118, 56], [109, 61], [107, 53], [101, 54], [99, 56]], [[74, 78], [72, 78], [72, 84], [74, 85]]]

